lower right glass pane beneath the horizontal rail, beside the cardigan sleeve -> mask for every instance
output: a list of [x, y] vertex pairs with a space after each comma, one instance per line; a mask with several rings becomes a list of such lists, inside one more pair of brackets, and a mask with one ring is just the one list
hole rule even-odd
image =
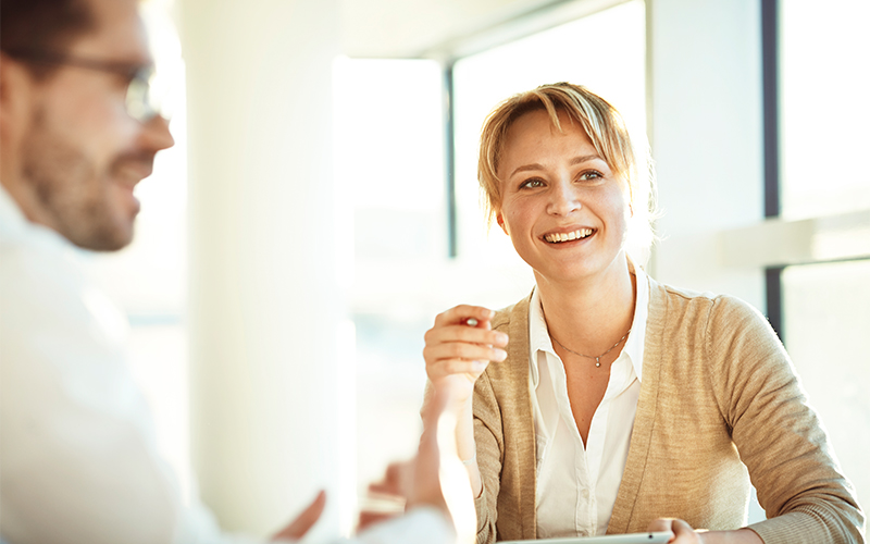
[[783, 271], [783, 330], [858, 499], [870, 502], [870, 260]]

